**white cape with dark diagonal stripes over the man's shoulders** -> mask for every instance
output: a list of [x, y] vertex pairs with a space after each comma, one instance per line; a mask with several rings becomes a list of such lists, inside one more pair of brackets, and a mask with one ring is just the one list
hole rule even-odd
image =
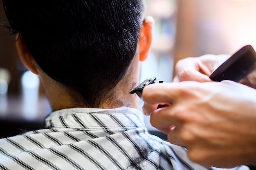
[[59, 110], [46, 126], [0, 139], [0, 169], [207, 170], [184, 148], [148, 134], [143, 114], [128, 107]]

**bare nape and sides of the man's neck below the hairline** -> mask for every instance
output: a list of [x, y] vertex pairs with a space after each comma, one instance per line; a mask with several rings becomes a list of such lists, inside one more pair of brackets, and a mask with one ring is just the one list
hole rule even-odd
[[[45, 73], [40, 73], [43, 85], [45, 87], [46, 95], [49, 99], [49, 103], [52, 107], [52, 111], [74, 108], [74, 107], [88, 107], [81, 103], [77, 103], [72, 99], [70, 93], [68, 93], [67, 87], [63, 86], [52, 80]], [[101, 101], [99, 108], [110, 109], [118, 107], [132, 107], [138, 108], [138, 97], [135, 94], [129, 94], [129, 92], [139, 83], [139, 60], [135, 57], [124, 78], [109, 92], [109, 97]]]

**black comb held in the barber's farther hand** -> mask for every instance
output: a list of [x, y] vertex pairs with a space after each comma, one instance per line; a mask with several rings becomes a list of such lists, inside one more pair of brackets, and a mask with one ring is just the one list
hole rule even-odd
[[238, 82], [256, 68], [256, 52], [251, 45], [239, 49], [210, 76], [213, 81], [231, 80]]

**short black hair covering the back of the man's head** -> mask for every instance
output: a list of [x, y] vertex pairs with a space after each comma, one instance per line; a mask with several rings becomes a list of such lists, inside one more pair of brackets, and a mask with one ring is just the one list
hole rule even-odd
[[135, 55], [142, 0], [3, 0], [3, 4], [10, 29], [22, 34], [40, 68], [89, 107], [99, 106]]

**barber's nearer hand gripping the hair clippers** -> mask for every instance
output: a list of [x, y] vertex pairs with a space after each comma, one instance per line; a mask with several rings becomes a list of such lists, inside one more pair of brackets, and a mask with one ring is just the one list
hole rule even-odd
[[142, 96], [150, 123], [171, 143], [186, 146], [191, 161], [222, 168], [256, 163], [255, 89], [186, 81], [148, 85]]

